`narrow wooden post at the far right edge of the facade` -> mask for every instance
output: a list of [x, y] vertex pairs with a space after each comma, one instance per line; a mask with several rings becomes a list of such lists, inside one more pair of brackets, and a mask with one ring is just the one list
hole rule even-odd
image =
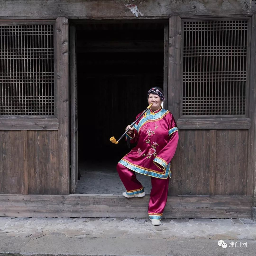
[[[252, 33], [251, 33], [251, 59], [250, 59], [250, 88], [249, 88], [249, 118], [251, 119], [251, 128], [249, 129], [248, 143], [248, 173], [252, 173], [252, 216], [256, 221], [256, 15], [252, 15]], [[247, 180], [247, 190], [250, 190], [250, 178]], [[250, 193], [250, 191], [248, 192]]]

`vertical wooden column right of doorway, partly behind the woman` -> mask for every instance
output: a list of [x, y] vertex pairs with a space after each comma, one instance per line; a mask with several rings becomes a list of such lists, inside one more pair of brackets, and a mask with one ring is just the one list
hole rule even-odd
[[[168, 110], [173, 114], [176, 122], [179, 119], [180, 102], [180, 42], [181, 42], [181, 18], [172, 16], [169, 19], [169, 44], [168, 44]], [[179, 144], [171, 164], [172, 178], [169, 183], [169, 195], [178, 195], [179, 175]]]

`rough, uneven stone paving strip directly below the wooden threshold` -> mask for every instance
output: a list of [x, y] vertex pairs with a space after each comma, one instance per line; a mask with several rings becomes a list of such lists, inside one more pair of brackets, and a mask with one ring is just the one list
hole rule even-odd
[[0, 235], [38, 238], [46, 234], [78, 237], [201, 238], [256, 240], [251, 219], [12, 218], [0, 217]]

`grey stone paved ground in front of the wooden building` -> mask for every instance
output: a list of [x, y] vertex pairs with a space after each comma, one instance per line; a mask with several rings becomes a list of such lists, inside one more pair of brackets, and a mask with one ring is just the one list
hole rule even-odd
[[[247, 248], [232, 247], [239, 242]], [[0, 256], [6, 255], [255, 256], [256, 222], [163, 219], [152, 226], [149, 219], [0, 217]]]

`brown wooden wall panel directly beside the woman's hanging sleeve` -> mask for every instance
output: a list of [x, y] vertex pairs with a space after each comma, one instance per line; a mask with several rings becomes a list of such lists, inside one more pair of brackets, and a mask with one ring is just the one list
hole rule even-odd
[[208, 130], [179, 131], [179, 195], [208, 195], [210, 134]]

